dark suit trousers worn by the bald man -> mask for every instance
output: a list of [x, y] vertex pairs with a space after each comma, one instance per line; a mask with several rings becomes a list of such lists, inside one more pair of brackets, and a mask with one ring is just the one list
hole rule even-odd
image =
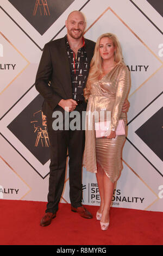
[[[78, 105], [76, 111], [80, 113], [82, 126], [82, 111], [86, 105]], [[55, 109], [56, 110], [56, 109]], [[61, 107], [57, 107], [64, 113]], [[70, 112], [72, 114], [72, 112]], [[68, 113], [68, 115], [70, 115]], [[47, 119], [49, 142], [51, 144], [51, 163], [49, 172], [49, 192], [46, 212], [57, 212], [61, 194], [65, 184], [65, 172], [67, 161], [67, 149], [69, 157], [69, 184], [70, 202], [75, 208], [82, 205], [82, 161], [85, 144], [85, 131], [80, 130], [57, 130], [52, 129], [54, 119]], [[69, 118], [72, 121], [72, 118]], [[70, 123], [69, 122], [69, 123]]]

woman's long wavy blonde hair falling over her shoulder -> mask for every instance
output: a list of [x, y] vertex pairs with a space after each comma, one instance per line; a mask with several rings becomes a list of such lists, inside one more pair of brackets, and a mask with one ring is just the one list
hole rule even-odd
[[86, 87], [84, 89], [84, 97], [85, 100], [89, 98], [90, 90], [91, 90], [91, 83], [96, 82], [100, 75], [103, 73], [102, 69], [102, 58], [99, 52], [99, 42], [102, 38], [110, 38], [112, 40], [112, 44], [115, 47], [115, 62], [116, 65], [123, 63], [123, 57], [122, 57], [122, 49], [120, 42], [117, 39], [117, 36], [112, 33], [105, 33], [99, 36], [96, 42], [95, 51], [93, 54], [93, 58], [90, 63], [90, 71], [89, 76], [87, 78]]

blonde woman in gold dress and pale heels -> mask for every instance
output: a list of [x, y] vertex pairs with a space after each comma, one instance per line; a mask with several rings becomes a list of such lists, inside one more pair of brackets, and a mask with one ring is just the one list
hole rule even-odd
[[111, 112], [110, 135], [102, 138], [96, 138], [95, 135], [95, 122], [99, 121], [96, 114], [91, 129], [88, 127], [90, 120], [86, 115], [84, 154], [86, 170], [96, 173], [101, 196], [96, 218], [101, 221], [101, 229], [106, 230], [109, 227], [115, 181], [122, 169], [122, 147], [126, 138], [125, 135], [116, 136], [116, 128], [119, 119], [123, 119], [125, 125], [127, 123], [127, 115], [122, 112], [122, 106], [130, 89], [130, 72], [123, 63], [121, 46], [114, 34], [99, 36], [90, 66], [84, 90], [85, 100], [88, 100], [87, 113]]

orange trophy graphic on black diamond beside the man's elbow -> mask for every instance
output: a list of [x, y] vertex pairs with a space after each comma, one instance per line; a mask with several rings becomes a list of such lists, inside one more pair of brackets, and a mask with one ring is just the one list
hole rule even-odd
[[34, 114], [34, 118], [36, 120], [31, 121], [30, 123], [34, 123], [34, 132], [37, 133], [35, 147], [38, 147], [39, 142], [41, 142], [42, 147], [49, 147], [49, 137], [47, 133], [47, 123], [46, 123], [46, 115], [43, 114], [43, 112], [37, 111]]

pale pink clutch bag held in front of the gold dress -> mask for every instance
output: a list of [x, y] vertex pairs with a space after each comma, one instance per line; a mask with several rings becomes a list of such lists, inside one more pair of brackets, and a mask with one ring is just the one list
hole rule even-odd
[[[102, 121], [95, 123], [96, 138], [106, 137], [110, 135], [110, 121]], [[124, 120], [118, 121], [116, 135], [126, 135]]]

